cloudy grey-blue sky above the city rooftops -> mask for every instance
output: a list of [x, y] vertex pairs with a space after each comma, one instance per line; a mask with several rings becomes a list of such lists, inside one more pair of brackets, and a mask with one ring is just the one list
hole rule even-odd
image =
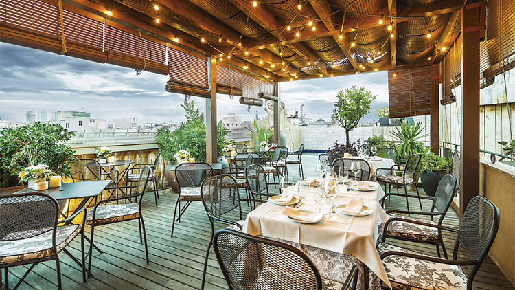
[[[168, 76], [59, 56], [36, 49], [0, 43], [0, 118], [24, 121], [27, 111], [89, 111], [92, 118], [112, 122], [138, 117], [140, 122], [174, 123], [183, 120], [183, 96], [165, 91]], [[336, 93], [351, 85], [365, 86], [377, 95], [364, 121], [373, 121], [378, 107], [388, 102], [387, 74], [378, 72], [280, 84], [279, 92], [289, 112], [304, 103], [308, 118], [330, 120]], [[204, 110], [205, 100], [196, 98]], [[218, 98], [218, 118], [228, 113], [251, 120], [255, 108], [229, 96]], [[265, 115], [264, 107], [258, 107]]]

